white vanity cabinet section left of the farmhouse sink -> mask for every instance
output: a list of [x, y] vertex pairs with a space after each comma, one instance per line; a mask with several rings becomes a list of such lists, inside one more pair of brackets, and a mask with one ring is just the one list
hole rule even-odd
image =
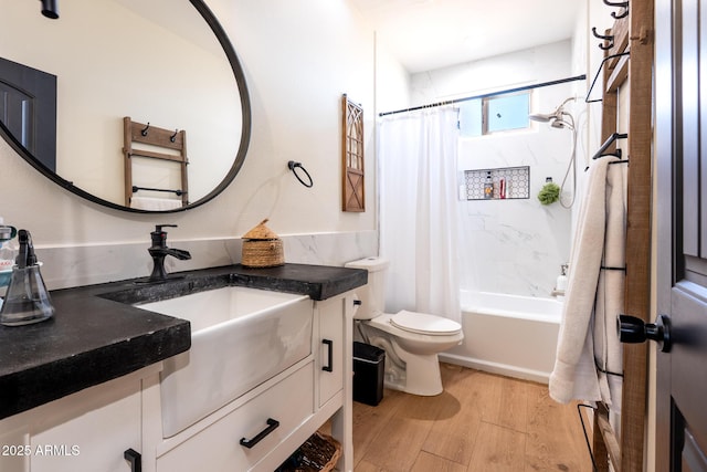
[[141, 449], [141, 378], [159, 366], [0, 421], [2, 472], [130, 472]]

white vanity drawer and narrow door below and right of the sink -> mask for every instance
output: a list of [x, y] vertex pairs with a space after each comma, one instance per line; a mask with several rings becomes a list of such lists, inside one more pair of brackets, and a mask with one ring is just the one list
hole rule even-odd
[[155, 469], [148, 458], [144, 470], [272, 472], [331, 420], [338, 470], [352, 471], [352, 313], [351, 292], [315, 302], [309, 356], [156, 443]]

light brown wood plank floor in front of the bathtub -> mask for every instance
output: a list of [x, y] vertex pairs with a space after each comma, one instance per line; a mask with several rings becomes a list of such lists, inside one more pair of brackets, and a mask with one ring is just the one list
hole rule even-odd
[[547, 386], [442, 364], [444, 392], [354, 402], [356, 472], [591, 471], [574, 405]]

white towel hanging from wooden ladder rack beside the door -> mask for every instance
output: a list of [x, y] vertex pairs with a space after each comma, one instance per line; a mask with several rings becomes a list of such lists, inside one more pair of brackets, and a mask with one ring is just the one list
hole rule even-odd
[[[623, 307], [625, 204], [623, 165], [616, 158], [594, 160], [582, 201], [568, 274], [550, 396], [621, 402], [622, 349], [616, 316]], [[615, 269], [602, 269], [615, 268]]]

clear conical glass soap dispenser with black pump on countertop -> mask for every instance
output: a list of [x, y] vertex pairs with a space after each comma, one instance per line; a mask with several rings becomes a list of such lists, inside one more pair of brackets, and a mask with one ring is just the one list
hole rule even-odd
[[0, 308], [0, 324], [6, 326], [39, 323], [54, 316], [54, 306], [40, 272], [30, 232], [18, 231], [18, 240], [19, 254]]

